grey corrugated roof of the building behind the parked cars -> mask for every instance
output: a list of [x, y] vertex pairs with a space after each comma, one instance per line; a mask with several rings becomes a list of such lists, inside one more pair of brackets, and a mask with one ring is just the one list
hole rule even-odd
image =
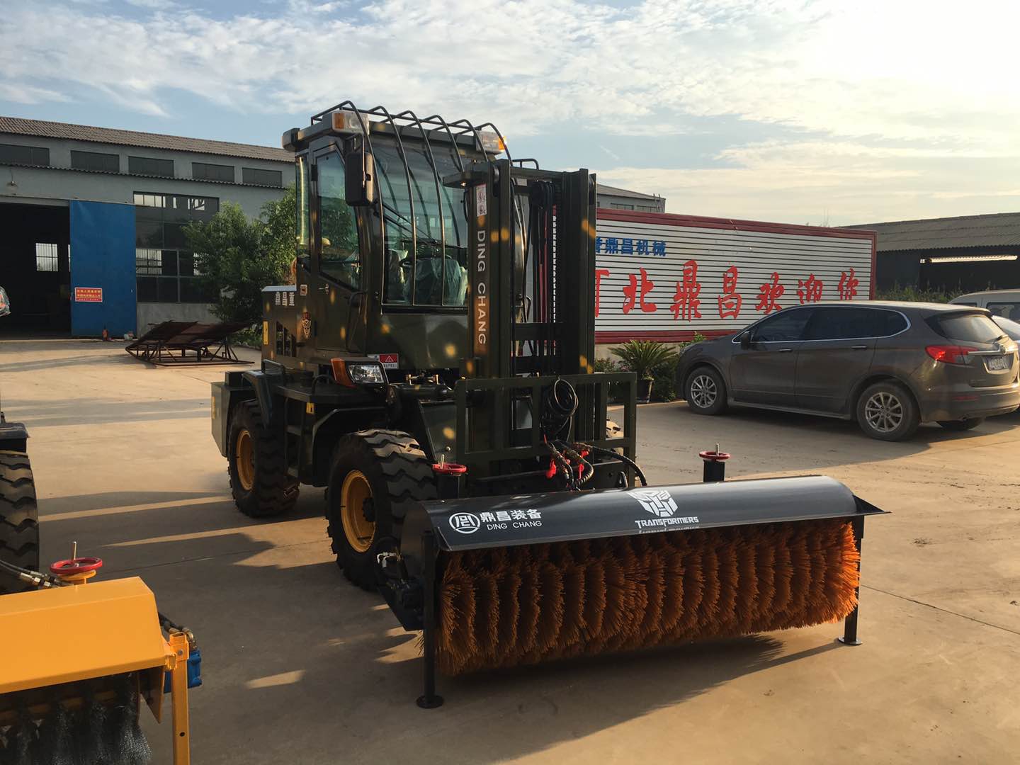
[[1020, 212], [847, 225], [878, 234], [878, 252], [1020, 247]]

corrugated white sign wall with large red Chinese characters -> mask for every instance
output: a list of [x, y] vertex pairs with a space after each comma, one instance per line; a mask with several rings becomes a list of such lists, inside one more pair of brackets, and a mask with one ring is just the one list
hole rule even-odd
[[872, 294], [874, 232], [600, 209], [596, 343], [717, 337]]

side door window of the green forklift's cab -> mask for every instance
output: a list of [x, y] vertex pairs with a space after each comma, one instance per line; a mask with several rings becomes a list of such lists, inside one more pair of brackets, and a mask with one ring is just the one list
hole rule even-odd
[[345, 201], [344, 161], [340, 154], [332, 152], [320, 156], [316, 166], [321, 232], [319, 272], [358, 289], [361, 286], [361, 254], [354, 210]]

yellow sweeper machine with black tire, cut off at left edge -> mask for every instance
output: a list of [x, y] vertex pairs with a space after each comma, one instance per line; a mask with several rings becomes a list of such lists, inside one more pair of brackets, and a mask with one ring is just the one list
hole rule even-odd
[[195, 638], [142, 579], [90, 581], [98, 558], [72, 553], [40, 571], [28, 438], [0, 412], [0, 765], [147, 763], [142, 703], [162, 720], [166, 695], [173, 763], [187, 765]]

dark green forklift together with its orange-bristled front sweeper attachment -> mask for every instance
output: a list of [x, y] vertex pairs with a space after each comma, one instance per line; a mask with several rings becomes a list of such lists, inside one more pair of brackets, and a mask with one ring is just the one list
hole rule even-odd
[[[347, 101], [288, 131], [296, 284], [212, 387], [239, 509], [325, 487], [345, 575], [449, 674], [846, 619], [864, 519], [822, 476], [648, 487], [595, 373], [596, 181], [499, 131]], [[605, 296], [603, 296], [605, 300]], [[622, 428], [607, 428], [610, 396]], [[641, 486], [638, 486], [638, 484]]]

